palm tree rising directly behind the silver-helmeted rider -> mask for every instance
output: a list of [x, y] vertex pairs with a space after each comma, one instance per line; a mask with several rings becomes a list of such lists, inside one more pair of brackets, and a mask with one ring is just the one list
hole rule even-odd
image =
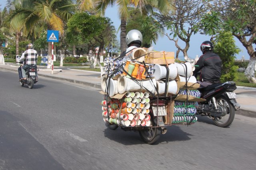
[[[91, 0], [78, 0], [80, 2], [79, 8], [86, 4], [93, 6]], [[118, 12], [121, 18], [120, 25], [120, 49], [124, 51], [126, 49], [125, 36], [126, 36], [126, 20], [129, 16], [129, 6], [139, 8], [142, 14], [152, 13], [154, 10], [158, 10], [162, 13], [167, 13], [173, 9], [172, 0], [97, 0], [94, 2], [95, 10], [98, 14], [105, 14], [105, 10], [108, 6], [118, 5]]]

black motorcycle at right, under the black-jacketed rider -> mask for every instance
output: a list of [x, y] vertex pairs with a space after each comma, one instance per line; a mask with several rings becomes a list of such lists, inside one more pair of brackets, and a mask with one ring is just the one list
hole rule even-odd
[[201, 98], [205, 102], [199, 102], [197, 113], [211, 117], [214, 123], [219, 127], [227, 127], [234, 120], [235, 110], [240, 108], [236, 102], [236, 90], [234, 82], [225, 82], [212, 84], [206, 88], [202, 88]]

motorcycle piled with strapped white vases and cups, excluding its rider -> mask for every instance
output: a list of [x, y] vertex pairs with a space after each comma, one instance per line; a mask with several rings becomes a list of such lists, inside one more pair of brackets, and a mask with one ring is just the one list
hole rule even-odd
[[[127, 58], [128, 56], [128, 58]], [[171, 125], [197, 121], [195, 102], [203, 102], [193, 66], [175, 62], [174, 52], [135, 48], [125, 57], [105, 58], [101, 76], [102, 116], [110, 129], [138, 130], [155, 143]]]

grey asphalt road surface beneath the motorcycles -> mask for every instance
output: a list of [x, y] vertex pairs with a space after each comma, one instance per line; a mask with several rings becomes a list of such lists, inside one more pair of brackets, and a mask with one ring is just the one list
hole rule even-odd
[[256, 119], [236, 115], [228, 128], [208, 117], [168, 127], [157, 145], [139, 133], [108, 129], [102, 95], [40, 78], [33, 89], [0, 70], [0, 170], [170, 170], [256, 167]]

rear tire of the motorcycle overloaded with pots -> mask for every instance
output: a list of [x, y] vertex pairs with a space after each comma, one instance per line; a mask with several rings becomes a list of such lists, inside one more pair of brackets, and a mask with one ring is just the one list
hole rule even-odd
[[[154, 122], [153, 119], [151, 119], [151, 121]], [[156, 123], [153, 123], [153, 126], [156, 126]], [[145, 143], [147, 143], [149, 145], [153, 145], [154, 143], [156, 143], [156, 141], [158, 141], [158, 139], [160, 137], [161, 128], [160, 127], [145, 127], [145, 129], [140, 130], [139, 133], [140, 133], [140, 137], [142, 138], [142, 140]]]

